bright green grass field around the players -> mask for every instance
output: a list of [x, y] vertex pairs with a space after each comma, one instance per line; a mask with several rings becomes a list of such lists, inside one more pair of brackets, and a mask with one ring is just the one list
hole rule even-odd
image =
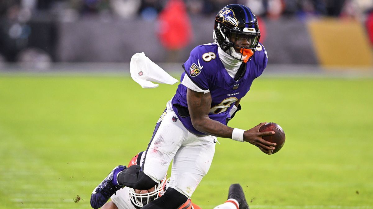
[[[124, 76], [0, 77], [0, 208], [90, 208], [94, 187], [147, 147], [175, 89]], [[269, 156], [219, 139], [192, 200], [213, 208], [241, 183], [251, 209], [373, 208], [372, 89], [372, 78], [254, 81], [229, 125], [279, 123], [285, 146]]]

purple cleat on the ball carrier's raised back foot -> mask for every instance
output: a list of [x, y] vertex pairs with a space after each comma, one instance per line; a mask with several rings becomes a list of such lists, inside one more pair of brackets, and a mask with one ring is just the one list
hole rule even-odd
[[126, 168], [127, 167], [124, 165], [118, 165], [100, 184], [98, 184], [91, 194], [92, 208], [101, 208], [116, 191], [123, 187], [118, 184], [117, 176], [120, 171]]

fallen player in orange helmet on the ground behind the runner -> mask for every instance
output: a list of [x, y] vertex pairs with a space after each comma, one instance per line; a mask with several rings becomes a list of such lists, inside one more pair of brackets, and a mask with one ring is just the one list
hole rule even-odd
[[[129, 161], [128, 167], [132, 165], [140, 165], [142, 160], [144, 160], [140, 152], [135, 157]], [[113, 196], [111, 196], [110, 202], [107, 202], [102, 209], [141, 209], [149, 202], [157, 199], [158, 197], [164, 194], [164, 190], [167, 187], [167, 177], [152, 187], [149, 190], [137, 190], [129, 187], [123, 187], [119, 189]], [[94, 203], [91, 203], [94, 205]], [[190, 206], [190, 209], [201, 209], [199, 206], [195, 205], [188, 199], [186, 206]], [[241, 207], [239, 207], [241, 206]], [[188, 207], [187, 207], [188, 208]], [[229, 188], [228, 200], [217, 206], [215, 209], [239, 209], [239, 208], [248, 208], [247, 202], [245, 200], [245, 195], [242, 190], [242, 187], [239, 184], [232, 184]]]

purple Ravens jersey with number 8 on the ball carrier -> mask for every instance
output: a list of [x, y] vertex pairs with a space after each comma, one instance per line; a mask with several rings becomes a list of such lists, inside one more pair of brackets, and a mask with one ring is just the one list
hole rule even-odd
[[[182, 73], [180, 80], [188, 76], [202, 90], [209, 89], [211, 93], [209, 118], [226, 125], [229, 110], [250, 90], [254, 79], [263, 73], [268, 57], [264, 47], [259, 43], [251, 60], [247, 62], [245, 74], [235, 81], [226, 71], [217, 48], [215, 43], [195, 47], [183, 65], [185, 72]], [[186, 129], [194, 134], [205, 134], [197, 131], [192, 125], [186, 102], [186, 90], [187, 87], [179, 84], [172, 99], [173, 110]]]

